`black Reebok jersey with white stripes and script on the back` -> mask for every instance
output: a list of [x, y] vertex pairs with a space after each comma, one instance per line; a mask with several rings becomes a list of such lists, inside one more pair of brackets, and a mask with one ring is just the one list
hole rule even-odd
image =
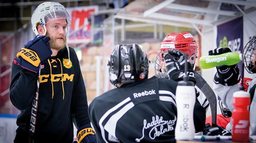
[[[89, 116], [98, 143], [175, 142], [177, 82], [151, 77], [123, 85], [95, 98]], [[205, 125], [206, 111], [197, 101], [194, 108], [196, 131]]]

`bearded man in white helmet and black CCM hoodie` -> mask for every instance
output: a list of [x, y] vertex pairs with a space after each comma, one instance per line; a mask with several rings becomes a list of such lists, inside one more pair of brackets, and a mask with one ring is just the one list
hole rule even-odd
[[10, 99], [21, 110], [14, 143], [72, 143], [73, 123], [79, 143], [96, 142], [79, 61], [65, 46], [68, 12], [60, 3], [44, 2], [31, 22], [37, 36], [12, 64]]

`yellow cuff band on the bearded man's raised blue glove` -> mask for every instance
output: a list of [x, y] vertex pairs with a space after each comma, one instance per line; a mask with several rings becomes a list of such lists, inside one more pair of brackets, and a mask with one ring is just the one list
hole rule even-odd
[[24, 60], [36, 67], [38, 67], [41, 62], [36, 52], [31, 49], [21, 48], [20, 52], [16, 56], [17, 58], [21, 56]]

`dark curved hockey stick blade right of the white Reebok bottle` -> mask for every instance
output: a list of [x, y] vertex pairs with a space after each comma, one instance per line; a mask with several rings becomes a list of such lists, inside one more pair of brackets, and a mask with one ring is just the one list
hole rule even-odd
[[212, 115], [212, 126], [216, 126], [216, 116], [217, 116], [217, 99], [214, 91], [209, 86], [209, 84], [202, 78], [200, 74], [195, 72], [196, 77], [196, 86], [205, 94], [210, 107], [211, 107], [211, 115]]

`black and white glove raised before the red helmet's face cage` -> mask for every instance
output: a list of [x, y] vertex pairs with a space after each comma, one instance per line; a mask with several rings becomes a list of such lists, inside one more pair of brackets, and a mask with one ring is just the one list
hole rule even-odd
[[[183, 76], [185, 75], [185, 54], [178, 49], [168, 49], [167, 54], [164, 56], [166, 62], [166, 71], [170, 79], [174, 81], [182, 81]], [[188, 62], [188, 80], [196, 84], [196, 78], [194, 70], [192, 69], [191, 64]]]

